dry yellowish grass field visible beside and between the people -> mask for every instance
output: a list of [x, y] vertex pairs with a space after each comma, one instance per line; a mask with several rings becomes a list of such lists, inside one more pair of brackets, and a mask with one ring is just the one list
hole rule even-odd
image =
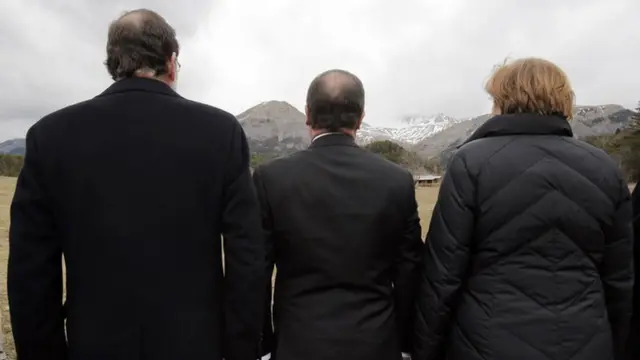
[[[9, 359], [15, 359], [15, 349], [11, 337], [11, 324], [9, 321], [9, 303], [7, 301], [7, 260], [9, 257], [9, 244], [7, 234], [9, 231], [9, 205], [15, 188], [14, 178], [0, 177], [0, 321], [2, 323], [2, 335], [4, 338], [4, 350]], [[437, 197], [438, 188], [419, 188], [416, 197], [420, 206], [420, 218], [422, 219], [422, 231], [426, 233], [431, 211]]]

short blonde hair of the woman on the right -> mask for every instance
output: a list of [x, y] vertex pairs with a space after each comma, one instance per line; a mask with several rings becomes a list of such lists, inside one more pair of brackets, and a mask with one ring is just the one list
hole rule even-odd
[[575, 95], [567, 74], [537, 58], [505, 60], [496, 66], [484, 89], [501, 114], [534, 113], [572, 118]]

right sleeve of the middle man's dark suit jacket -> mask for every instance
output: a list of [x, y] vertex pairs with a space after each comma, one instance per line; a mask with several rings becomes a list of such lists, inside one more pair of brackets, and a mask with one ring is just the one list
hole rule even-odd
[[393, 269], [393, 292], [398, 324], [400, 350], [410, 353], [413, 345], [414, 299], [422, 259], [422, 229], [413, 177], [407, 175], [404, 228], [399, 236], [395, 266]]

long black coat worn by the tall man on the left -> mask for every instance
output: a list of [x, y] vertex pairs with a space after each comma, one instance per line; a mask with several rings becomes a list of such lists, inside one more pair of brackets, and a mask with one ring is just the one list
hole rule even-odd
[[264, 242], [232, 115], [126, 79], [26, 141], [8, 269], [21, 360], [255, 360]]

